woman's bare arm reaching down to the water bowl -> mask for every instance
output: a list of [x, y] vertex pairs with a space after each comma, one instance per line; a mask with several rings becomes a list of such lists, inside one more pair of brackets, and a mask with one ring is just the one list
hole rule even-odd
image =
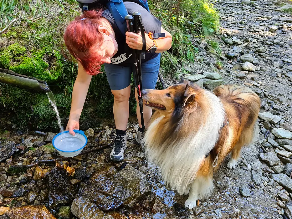
[[92, 75], [86, 73], [82, 65], [78, 62], [78, 74], [73, 86], [72, 103], [69, 121], [66, 130], [74, 135], [73, 129], [79, 129], [79, 118], [86, 99]]

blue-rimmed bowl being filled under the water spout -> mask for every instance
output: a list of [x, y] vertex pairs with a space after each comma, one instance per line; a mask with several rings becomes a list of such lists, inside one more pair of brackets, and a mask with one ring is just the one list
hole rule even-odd
[[69, 131], [60, 132], [52, 141], [54, 148], [56, 148], [60, 155], [64, 157], [74, 157], [80, 154], [87, 144], [87, 137], [84, 131], [73, 130], [75, 136], [71, 135]]

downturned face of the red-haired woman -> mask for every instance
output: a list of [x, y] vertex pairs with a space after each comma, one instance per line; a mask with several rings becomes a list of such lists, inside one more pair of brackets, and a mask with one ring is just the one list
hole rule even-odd
[[103, 33], [103, 37], [104, 40], [99, 48], [98, 54], [103, 57], [101, 59], [102, 63], [110, 64], [110, 59], [118, 52], [118, 43], [111, 33], [109, 35]]

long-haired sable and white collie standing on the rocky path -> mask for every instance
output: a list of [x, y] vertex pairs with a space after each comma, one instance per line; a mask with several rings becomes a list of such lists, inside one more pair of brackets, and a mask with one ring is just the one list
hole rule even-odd
[[260, 99], [251, 89], [221, 85], [210, 92], [187, 80], [164, 90], [142, 91], [155, 109], [142, 140], [146, 158], [160, 167], [167, 185], [187, 195], [185, 206], [213, 192], [213, 171], [232, 151], [238, 163], [243, 145], [254, 141]]

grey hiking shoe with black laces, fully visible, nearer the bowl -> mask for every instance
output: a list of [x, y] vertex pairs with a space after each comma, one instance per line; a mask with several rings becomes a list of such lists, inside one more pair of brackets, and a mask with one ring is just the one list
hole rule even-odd
[[115, 135], [113, 149], [110, 152], [110, 159], [114, 161], [121, 161], [124, 159], [124, 151], [127, 148], [127, 136]]

